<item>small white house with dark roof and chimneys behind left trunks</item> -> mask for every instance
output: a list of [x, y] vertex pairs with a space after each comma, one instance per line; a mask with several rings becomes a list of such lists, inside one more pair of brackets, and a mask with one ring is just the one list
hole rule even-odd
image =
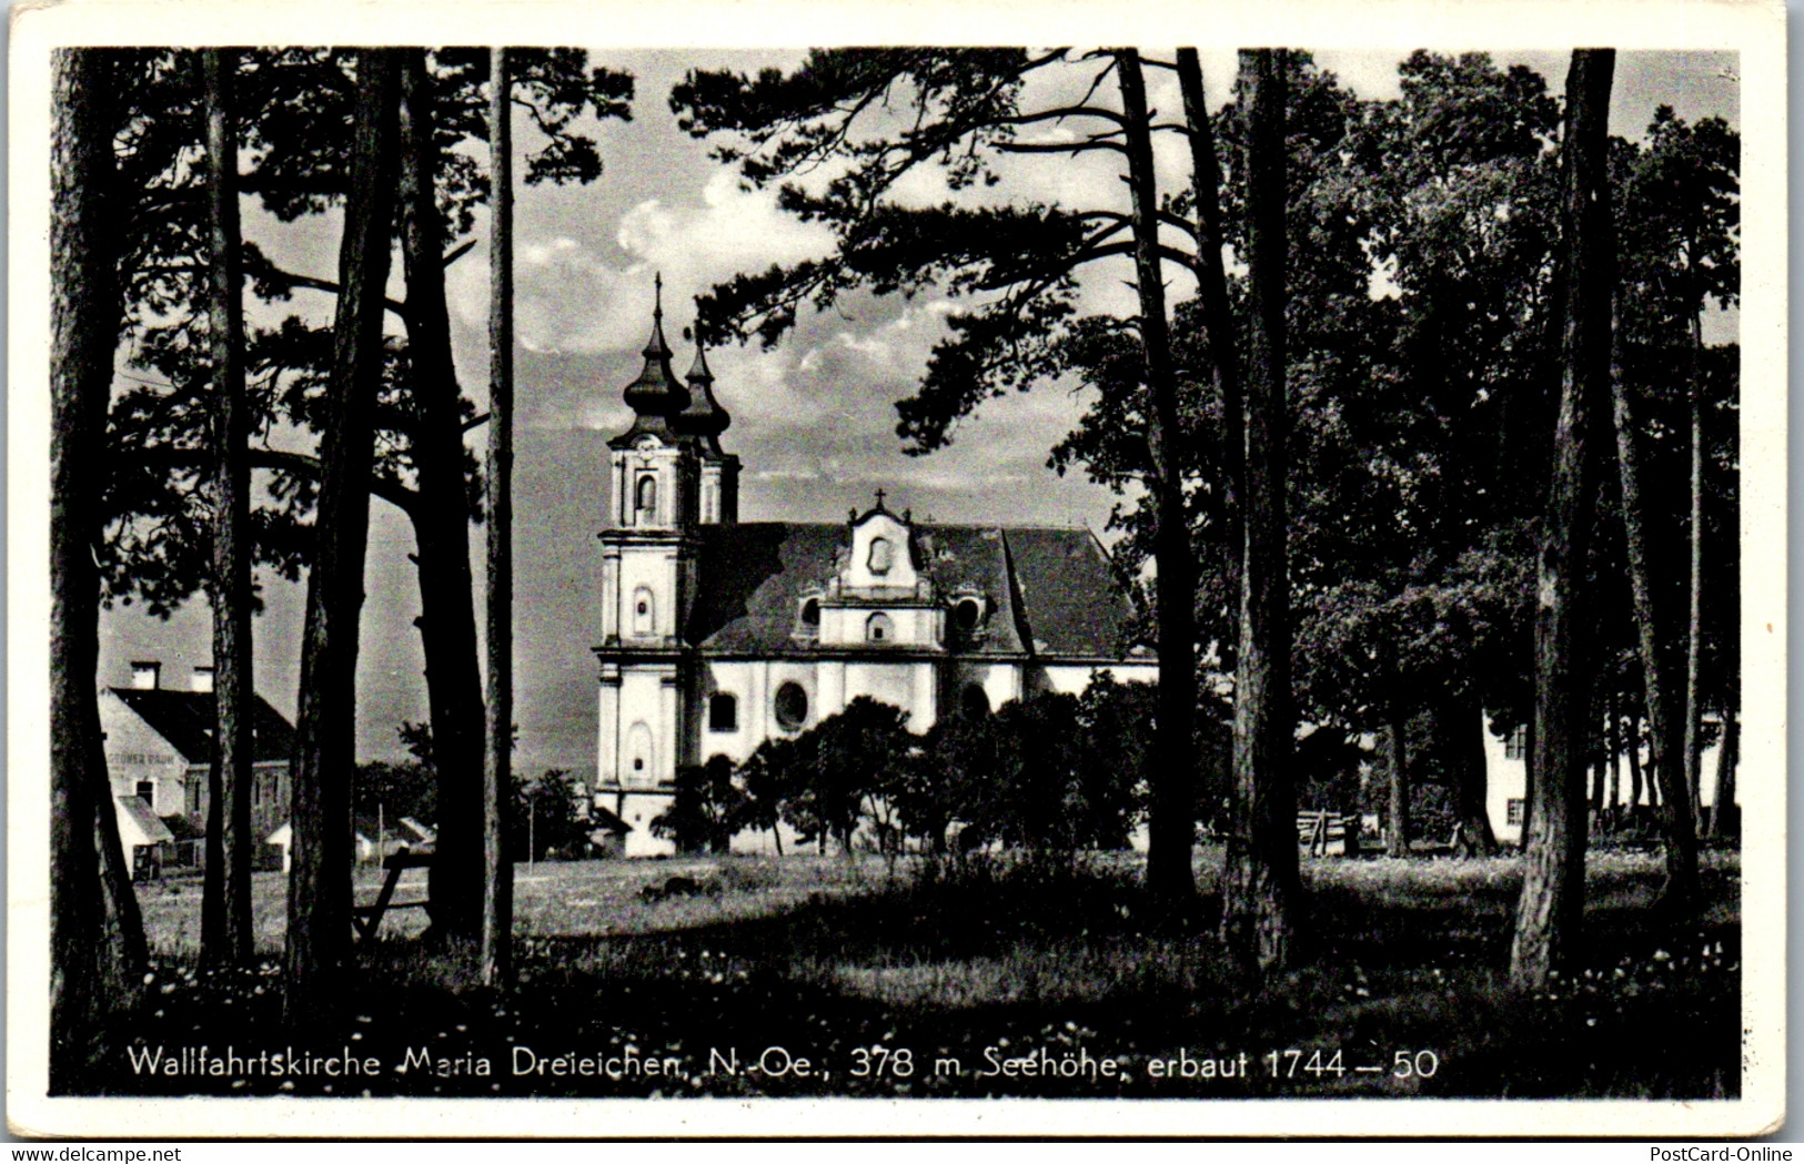
[[[188, 690], [162, 687], [162, 665], [132, 663], [130, 687], [99, 696], [106, 773], [115, 798], [150, 807], [153, 818], [182, 818], [162, 843], [193, 836], [207, 818], [216, 696], [213, 668], [195, 667]], [[294, 726], [258, 696], [253, 706], [251, 834], [263, 838], [289, 814], [289, 755]], [[126, 827], [121, 816], [121, 829]], [[193, 849], [198, 849], [195, 845]]]

